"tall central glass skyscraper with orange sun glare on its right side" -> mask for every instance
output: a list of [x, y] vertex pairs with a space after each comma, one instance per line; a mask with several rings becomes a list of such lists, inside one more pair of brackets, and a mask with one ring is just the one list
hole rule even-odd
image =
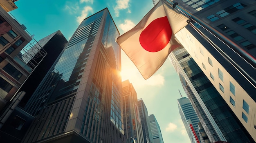
[[107, 8], [81, 22], [25, 106], [23, 143], [124, 143], [118, 36]]

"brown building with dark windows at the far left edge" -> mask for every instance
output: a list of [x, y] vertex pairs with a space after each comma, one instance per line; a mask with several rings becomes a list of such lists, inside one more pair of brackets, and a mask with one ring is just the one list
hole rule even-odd
[[20, 58], [31, 40], [22, 26], [0, 7], [0, 111], [13, 98], [32, 69]]

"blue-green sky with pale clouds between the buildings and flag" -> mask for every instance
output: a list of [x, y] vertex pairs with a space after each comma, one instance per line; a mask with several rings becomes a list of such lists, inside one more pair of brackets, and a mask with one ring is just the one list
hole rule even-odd
[[[58, 30], [69, 40], [83, 19], [106, 7], [122, 35], [154, 6], [152, 0], [18, 0], [15, 4], [18, 9], [9, 13], [24, 24], [37, 41]], [[138, 99], [142, 98], [146, 104], [148, 115], [155, 115], [164, 143], [190, 143], [177, 105], [180, 92], [183, 97], [186, 95], [169, 59], [145, 80], [121, 52], [122, 80], [132, 83]]]

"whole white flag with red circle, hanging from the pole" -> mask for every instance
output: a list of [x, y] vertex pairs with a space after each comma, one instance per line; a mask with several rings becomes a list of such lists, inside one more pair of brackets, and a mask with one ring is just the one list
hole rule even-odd
[[188, 18], [160, 0], [130, 31], [117, 38], [117, 43], [138, 68], [144, 79], [151, 77], [180, 44], [174, 34], [184, 28]]

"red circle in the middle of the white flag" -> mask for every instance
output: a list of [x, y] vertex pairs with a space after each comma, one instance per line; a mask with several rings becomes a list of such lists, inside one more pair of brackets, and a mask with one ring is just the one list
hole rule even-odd
[[172, 30], [167, 17], [153, 20], [141, 32], [139, 42], [149, 52], [162, 50], [171, 40]]

